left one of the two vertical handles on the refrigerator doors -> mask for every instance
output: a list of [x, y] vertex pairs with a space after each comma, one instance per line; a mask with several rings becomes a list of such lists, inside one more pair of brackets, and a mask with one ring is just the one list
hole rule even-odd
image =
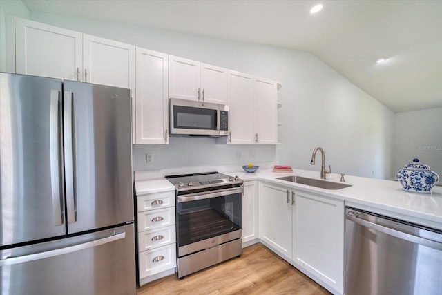
[[60, 195], [60, 149], [59, 149], [59, 90], [50, 91], [50, 185], [52, 187], [52, 211], [55, 225], [63, 225]]

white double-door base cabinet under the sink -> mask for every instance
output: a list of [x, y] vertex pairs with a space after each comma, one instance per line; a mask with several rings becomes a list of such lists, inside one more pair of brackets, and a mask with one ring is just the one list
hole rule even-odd
[[343, 294], [344, 202], [261, 182], [259, 208], [262, 243]]

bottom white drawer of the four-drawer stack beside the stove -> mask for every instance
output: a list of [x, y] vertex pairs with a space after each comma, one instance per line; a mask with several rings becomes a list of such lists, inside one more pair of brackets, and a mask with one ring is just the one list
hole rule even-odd
[[140, 278], [164, 272], [176, 266], [176, 244], [158, 247], [138, 254]]

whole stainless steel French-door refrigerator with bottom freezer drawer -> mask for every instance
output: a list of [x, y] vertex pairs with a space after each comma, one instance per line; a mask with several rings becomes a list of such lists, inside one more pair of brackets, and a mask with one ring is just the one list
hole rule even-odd
[[131, 96], [0, 73], [1, 294], [135, 294]]

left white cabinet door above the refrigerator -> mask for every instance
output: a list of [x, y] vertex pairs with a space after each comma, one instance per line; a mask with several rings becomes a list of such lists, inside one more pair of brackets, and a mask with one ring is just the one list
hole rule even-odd
[[15, 18], [18, 74], [81, 79], [82, 34]]

